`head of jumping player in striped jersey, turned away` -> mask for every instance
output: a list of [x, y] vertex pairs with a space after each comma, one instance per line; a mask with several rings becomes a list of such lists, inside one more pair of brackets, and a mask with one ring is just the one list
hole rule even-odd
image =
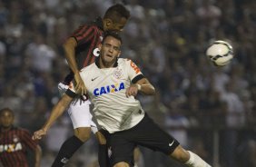
[[113, 5], [103, 16], [103, 29], [104, 31], [123, 31], [129, 18], [130, 12], [123, 5]]

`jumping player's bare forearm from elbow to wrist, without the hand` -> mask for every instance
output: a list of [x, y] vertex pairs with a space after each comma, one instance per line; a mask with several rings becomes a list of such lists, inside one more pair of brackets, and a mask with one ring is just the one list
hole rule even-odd
[[74, 37], [70, 37], [64, 43], [64, 55], [67, 60], [67, 63], [74, 74], [79, 74], [79, 69], [75, 61], [75, 47], [77, 43]]

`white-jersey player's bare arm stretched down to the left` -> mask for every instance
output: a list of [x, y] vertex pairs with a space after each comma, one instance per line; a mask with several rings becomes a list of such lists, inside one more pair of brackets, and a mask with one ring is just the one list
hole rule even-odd
[[65, 109], [67, 108], [69, 103], [72, 102], [72, 100], [72, 97], [68, 96], [67, 94], [64, 94], [61, 100], [54, 105], [51, 115], [47, 119], [46, 123], [44, 123], [42, 129], [34, 132], [32, 139], [41, 139], [47, 133], [48, 129], [52, 126], [52, 124], [58, 119], [58, 117], [64, 113]]

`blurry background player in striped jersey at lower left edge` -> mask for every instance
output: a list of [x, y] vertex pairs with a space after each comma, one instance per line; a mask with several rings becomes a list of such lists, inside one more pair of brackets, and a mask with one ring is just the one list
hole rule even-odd
[[27, 130], [15, 127], [14, 121], [15, 115], [11, 109], [0, 110], [0, 162], [5, 167], [28, 167], [26, 152], [29, 149], [34, 152], [34, 167], [39, 167], [40, 146], [31, 139]]

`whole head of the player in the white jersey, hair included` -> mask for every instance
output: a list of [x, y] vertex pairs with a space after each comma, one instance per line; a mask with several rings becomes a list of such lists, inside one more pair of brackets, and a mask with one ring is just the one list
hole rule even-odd
[[115, 64], [117, 58], [121, 54], [122, 38], [117, 32], [105, 32], [103, 42], [99, 45], [100, 62], [105, 67]]

